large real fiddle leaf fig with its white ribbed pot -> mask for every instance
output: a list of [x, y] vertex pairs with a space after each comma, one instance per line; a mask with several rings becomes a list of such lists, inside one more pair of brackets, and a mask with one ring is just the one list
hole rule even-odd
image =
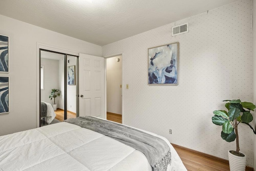
[[254, 134], [256, 134], [253, 127], [249, 124], [253, 119], [250, 111], [254, 111], [256, 106], [250, 102], [241, 102], [240, 99], [224, 101], [228, 101], [228, 103], [225, 104], [228, 111], [213, 111], [214, 116], [212, 117], [212, 122], [216, 125], [222, 125], [222, 139], [226, 140], [227, 142], [236, 140], [236, 150], [228, 151], [230, 171], [237, 169], [244, 171], [246, 167], [246, 155], [240, 152], [238, 125], [240, 123], [244, 123], [252, 129]]

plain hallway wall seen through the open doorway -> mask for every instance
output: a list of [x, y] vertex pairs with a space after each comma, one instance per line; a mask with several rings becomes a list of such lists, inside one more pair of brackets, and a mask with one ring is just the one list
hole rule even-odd
[[107, 111], [122, 115], [122, 56], [107, 58], [106, 61]]

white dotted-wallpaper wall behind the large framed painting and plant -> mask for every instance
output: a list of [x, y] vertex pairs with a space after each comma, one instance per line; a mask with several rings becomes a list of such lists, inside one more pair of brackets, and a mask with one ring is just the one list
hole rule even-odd
[[[172, 37], [172, 26], [189, 32]], [[148, 48], [180, 42], [179, 85], [148, 85]], [[212, 111], [225, 99], [252, 101], [252, 1], [204, 12], [102, 47], [102, 56], [122, 54], [124, 124], [166, 137], [171, 143], [228, 158]], [[239, 125], [240, 149], [253, 165], [252, 131]], [[172, 134], [169, 134], [172, 129]]]

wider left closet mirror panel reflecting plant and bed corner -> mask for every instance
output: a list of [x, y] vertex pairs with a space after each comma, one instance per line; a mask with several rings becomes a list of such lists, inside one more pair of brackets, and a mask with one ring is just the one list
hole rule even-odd
[[41, 126], [64, 120], [64, 58], [41, 50]]

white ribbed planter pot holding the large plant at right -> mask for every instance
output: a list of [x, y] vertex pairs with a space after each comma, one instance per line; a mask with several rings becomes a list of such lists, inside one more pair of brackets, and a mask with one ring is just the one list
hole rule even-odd
[[[232, 150], [229, 150], [232, 151]], [[244, 157], [233, 155], [228, 151], [228, 161], [230, 171], [245, 171], [246, 167], [246, 155]], [[242, 153], [242, 152], [240, 152]]]

